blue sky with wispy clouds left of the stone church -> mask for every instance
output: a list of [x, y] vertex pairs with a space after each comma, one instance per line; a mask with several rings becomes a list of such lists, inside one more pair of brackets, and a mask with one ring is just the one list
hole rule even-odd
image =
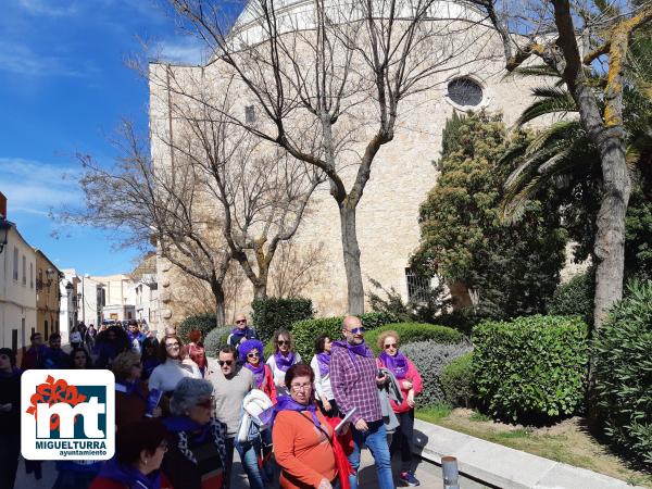
[[[97, 229], [62, 226], [50, 209], [80, 204], [76, 152], [110, 164], [122, 116], [147, 128], [147, 84], [125, 65], [146, 39], [163, 59], [197, 63], [158, 0], [3, 0], [0, 15], [0, 191], [27, 241], [60, 267], [128, 272], [137, 250]], [[53, 234], [58, 237], [53, 237]]]

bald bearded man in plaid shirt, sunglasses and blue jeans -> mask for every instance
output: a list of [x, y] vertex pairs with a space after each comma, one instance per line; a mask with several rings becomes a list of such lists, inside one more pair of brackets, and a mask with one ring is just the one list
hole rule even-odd
[[365, 344], [364, 327], [360, 318], [346, 316], [342, 321], [344, 341], [335, 341], [330, 350], [330, 387], [338, 408], [350, 413], [353, 435], [353, 452], [349, 462], [354, 471], [349, 476], [351, 489], [358, 488], [360, 451], [367, 446], [376, 461], [376, 474], [380, 489], [393, 489], [391, 457], [387, 446], [387, 431], [378, 398], [378, 387], [386, 380], [378, 377], [374, 353]]

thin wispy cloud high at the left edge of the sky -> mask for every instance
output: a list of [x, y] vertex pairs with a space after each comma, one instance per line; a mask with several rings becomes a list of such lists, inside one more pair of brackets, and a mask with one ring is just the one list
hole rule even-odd
[[0, 71], [28, 76], [88, 76], [93, 70], [72, 68], [62, 58], [38, 54], [28, 46], [0, 40]]

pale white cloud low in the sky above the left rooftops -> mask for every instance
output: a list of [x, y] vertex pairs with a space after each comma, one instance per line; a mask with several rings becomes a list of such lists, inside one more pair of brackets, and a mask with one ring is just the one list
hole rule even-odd
[[71, 178], [75, 172], [73, 166], [0, 158], [0, 191], [10, 218], [14, 212], [48, 215], [51, 209], [79, 202], [82, 193]]

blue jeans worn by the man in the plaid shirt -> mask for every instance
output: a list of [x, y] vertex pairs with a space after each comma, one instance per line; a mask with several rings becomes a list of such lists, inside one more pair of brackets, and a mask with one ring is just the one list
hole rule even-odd
[[366, 444], [376, 461], [376, 474], [380, 489], [394, 489], [391, 475], [391, 457], [387, 446], [387, 431], [383, 419], [367, 423], [368, 431], [359, 431], [351, 426], [353, 434], [353, 452], [349, 455], [349, 463], [355, 472], [349, 476], [351, 489], [358, 489], [358, 468], [360, 467], [360, 451]]

